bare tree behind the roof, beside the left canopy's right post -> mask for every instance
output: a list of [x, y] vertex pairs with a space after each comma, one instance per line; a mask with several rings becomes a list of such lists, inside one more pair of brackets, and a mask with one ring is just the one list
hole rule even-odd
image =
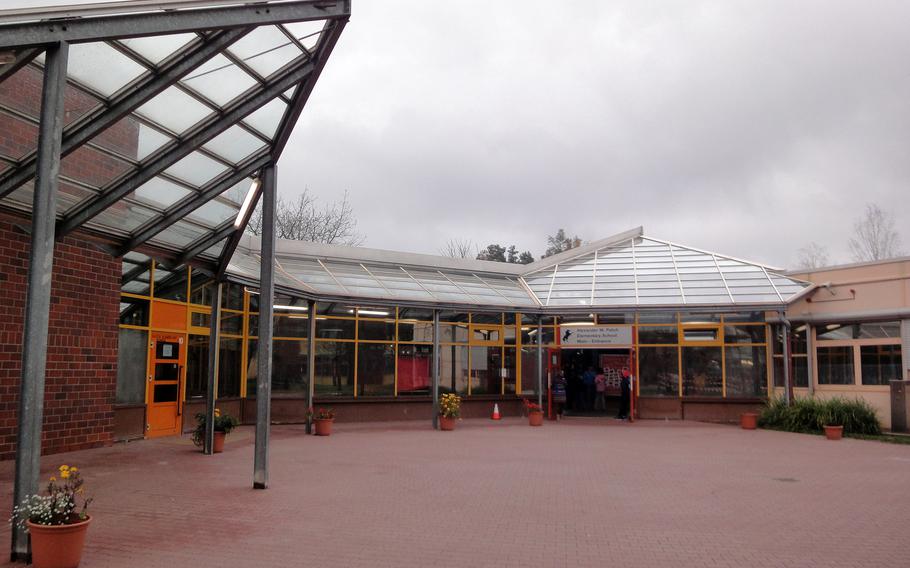
[[[262, 209], [256, 207], [247, 232], [262, 234]], [[313, 243], [358, 246], [364, 236], [357, 232], [354, 208], [344, 193], [341, 201], [319, 208], [317, 199], [308, 189], [294, 201], [278, 198], [275, 210], [275, 235], [279, 239], [309, 241]]]

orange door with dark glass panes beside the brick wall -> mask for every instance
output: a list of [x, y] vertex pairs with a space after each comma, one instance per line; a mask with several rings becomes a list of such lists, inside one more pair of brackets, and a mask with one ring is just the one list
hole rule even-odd
[[180, 432], [186, 337], [152, 332], [149, 338], [148, 406], [146, 435], [172, 436]]

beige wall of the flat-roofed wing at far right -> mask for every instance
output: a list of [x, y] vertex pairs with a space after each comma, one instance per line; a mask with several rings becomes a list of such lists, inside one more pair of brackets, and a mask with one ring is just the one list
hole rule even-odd
[[[848, 323], [860, 321], [901, 321], [902, 358], [904, 376], [910, 370], [910, 258], [875, 263], [845, 265], [812, 272], [789, 274], [800, 280], [810, 281], [818, 288], [787, 308], [787, 317], [794, 327], [801, 320], [813, 325], [826, 322]], [[876, 340], [842, 342], [844, 344], [875, 343]], [[814, 341], [813, 345], [817, 346]], [[885, 428], [891, 427], [890, 387], [862, 385], [855, 376], [855, 385], [819, 385], [818, 361], [811, 356], [812, 391], [820, 398], [863, 398], [877, 411]], [[858, 365], [857, 365], [858, 366]], [[775, 389], [778, 395], [783, 389]], [[808, 396], [810, 389], [794, 389], [796, 396]]]

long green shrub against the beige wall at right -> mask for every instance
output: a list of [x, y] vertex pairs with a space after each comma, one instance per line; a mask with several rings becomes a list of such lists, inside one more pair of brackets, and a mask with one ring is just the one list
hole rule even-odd
[[878, 435], [882, 431], [875, 409], [868, 402], [845, 398], [801, 397], [789, 405], [783, 398], [774, 398], [759, 416], [758, 425], [788, 432], [818, 433], [825, 426], [843, 426], [845, 434]]

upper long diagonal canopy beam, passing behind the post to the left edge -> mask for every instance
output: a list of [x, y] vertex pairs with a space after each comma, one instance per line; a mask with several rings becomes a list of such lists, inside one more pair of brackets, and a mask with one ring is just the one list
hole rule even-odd
[[[2, 27], [0, 27], [2, 30]], [[136, 110], [156, 95], [177, 83], [194, 69], [218, 55], [232, 43], [252, 31], [252, 28], [218, 31], [201, 43], [186, 48], [186, 53], [174, 57], [160, 71], [140, 79], [128, 91], [103, 105], [98, 111], [80, 118], [67, 127], [60, 149], [61, 157], [77, 150], [83, 144], [113, 126], [130, 112]], [[0, 198], [15, 191], [35, 176], [35, 155], [26, 155], [19, 166], [0, 178]]]

